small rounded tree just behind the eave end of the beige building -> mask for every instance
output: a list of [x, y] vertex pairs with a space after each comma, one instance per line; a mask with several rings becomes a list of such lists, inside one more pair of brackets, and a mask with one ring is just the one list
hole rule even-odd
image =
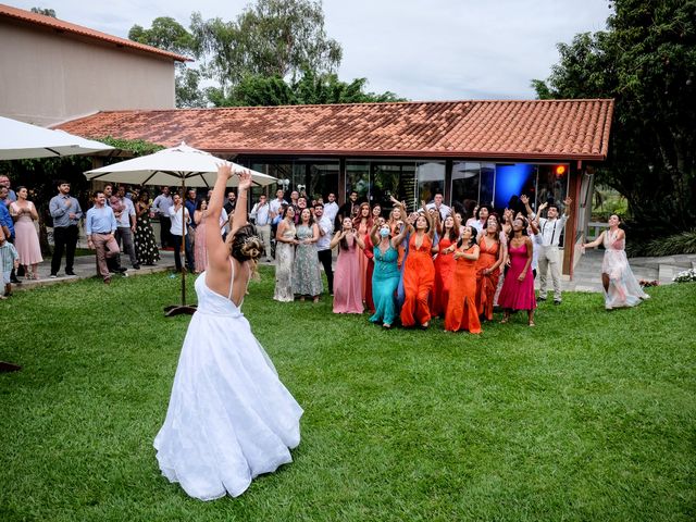
[[[198, 52], [198, 41], [194, 35], [169, 16], [154, 18], [149, 29], [134, 25], [128, 38], [177, 54], [195, 55]], [[176, 62], [175, 66], [176, 107], [206, 107], [206, 96], [199, 88], [200, 72], [181, 62]]]

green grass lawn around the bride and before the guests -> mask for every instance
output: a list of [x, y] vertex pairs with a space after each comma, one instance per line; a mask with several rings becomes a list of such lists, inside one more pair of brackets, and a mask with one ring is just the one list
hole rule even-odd
[[[192, 293], [192, 281], [190, 296]], [[606, 312], [543, 304], [537, 327], [449, 334], [277, 303], [245, 313], [306, 410], [295, 462], [200, 502], [151, 443], [188, 318], [178, 279], [97, 279], [0, 302], [0, 520], [366, 521], [696, 518], [696, 283]]]

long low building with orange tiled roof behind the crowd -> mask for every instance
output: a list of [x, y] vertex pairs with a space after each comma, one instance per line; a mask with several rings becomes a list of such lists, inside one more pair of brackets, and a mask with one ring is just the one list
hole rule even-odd
[[[573, 199], [563, 273], [580, 259], [594, 167], [606, 160], [613, 100], [470, 100], [103, 111], [60, 127], [92, 138], [182, 141], [279, 179], [310, 199], [335, 192], [414, 209], [448, 204], [499, 213], [525, 194], [533, 208]], [[256, 189], [257, 191], [262, 189]], [[266, 188], [273, 198], [275, 187]]]

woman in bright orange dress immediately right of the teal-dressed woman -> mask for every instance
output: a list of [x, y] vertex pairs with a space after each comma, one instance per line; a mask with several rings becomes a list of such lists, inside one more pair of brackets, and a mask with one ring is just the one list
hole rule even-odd
[[411, 216], [414, 223], [409, 239], [409, 254], [403, 266], [405, 300], [401, 307], [401, 324], [413, 326], [417, 323], [426, 328], [431, 321], [431, 310], [427, 298], [435, 283], [435, 265], [433, 253], [437, 246], [433, 246], [435, 228], [433, 221], [423, 202], [423, 213], [418, 217]]

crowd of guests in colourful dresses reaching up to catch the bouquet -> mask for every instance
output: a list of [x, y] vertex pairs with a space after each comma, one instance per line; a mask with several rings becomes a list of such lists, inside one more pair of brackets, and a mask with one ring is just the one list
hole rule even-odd
[[[447, 331], [481, 333], [481, 323], [493, 321], [494, 307], [504, 311], [501, 323], [512, 312], [525, 311], [527, 324], [534, 326], [537, 299], [546, 299], [549, 270], [555, 302], [561, 302], [558, 241], [570, 198], [563, 201], [562, 214], [558, 204], [548, 203], [534, 212], [522, 195], [519, 210], [498, 215], [484, 204], [468, 217], [444, 204], [442, 194], [411, 213], [391, 198], [388, 215], [380, 204], [358, 201], [357, 192], [341, 207], [333, 194], [328, 203], [314, 201], [312, 208], [296, 192], [290, 201], [283, 196], [278, 190], [269, 213], [275, 229], [278, 301], [316, 302], [323, 291], [321, 264], [334, 297], [333, 311], [368, 310], [370, 321], [385, 328], [397, 323], [427, 328], [439, 316]], [[545, 209], [547, 215], [540, 217]], [[333, 249], [338, 252], [335, 273]]]

